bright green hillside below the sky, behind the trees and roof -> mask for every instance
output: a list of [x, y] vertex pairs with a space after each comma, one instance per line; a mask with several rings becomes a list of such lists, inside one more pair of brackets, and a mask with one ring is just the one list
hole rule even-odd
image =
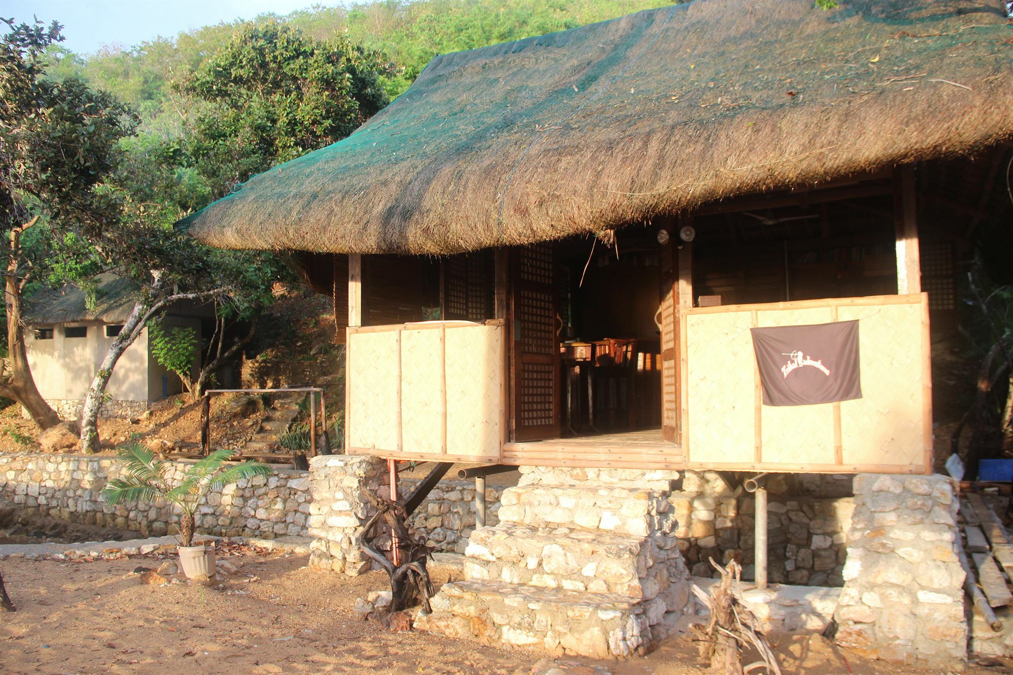
[[193, 109], [173, 86], [217, 54], [244, 26], [280, 20], [308, 38], [344, 35], [379, 51], [393, 68], [383, 85], [393, 98], [408, 88], [438, 54], [469, 50], [602, 21], [672, 0], [380, 0], [349, 7], [317, 7], [286, 16], [263, 14], [252, 21], [205, 26], [129, 48], [109, 47], [93, 55], [54, 48], [51, 75], [71, 73], [132, 105], [142, 130], [181, 133]]

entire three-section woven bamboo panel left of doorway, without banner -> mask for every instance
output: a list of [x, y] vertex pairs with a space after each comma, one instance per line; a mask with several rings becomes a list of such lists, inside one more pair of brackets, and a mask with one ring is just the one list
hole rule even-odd
[[348, 328], [348, 453], [499, 460], [504, 321]]

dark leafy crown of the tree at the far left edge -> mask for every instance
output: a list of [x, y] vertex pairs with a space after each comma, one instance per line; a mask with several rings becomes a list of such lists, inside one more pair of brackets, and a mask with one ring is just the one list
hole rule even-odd
[[114, 226], [120, 202], [107, 180], [122, 139], [138, 118], [79, 77], [45, 77], [46, 51], [60, 25], [15, 24], [0, 36], [0, 228], [37, 217], [17, 258], [24, 280], [57, 284], [99, 271], [100, 254], [85, 229]]

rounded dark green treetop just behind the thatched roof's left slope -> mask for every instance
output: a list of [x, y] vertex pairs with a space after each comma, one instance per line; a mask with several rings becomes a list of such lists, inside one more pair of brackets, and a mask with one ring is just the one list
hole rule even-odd
[[254, 173], [338, 141], [387, 104], [391, 66], [345, 36], [315, 41], [291, 25], [243, 27], [178, 91], [208, 103], [188, 152], [222, 196]]

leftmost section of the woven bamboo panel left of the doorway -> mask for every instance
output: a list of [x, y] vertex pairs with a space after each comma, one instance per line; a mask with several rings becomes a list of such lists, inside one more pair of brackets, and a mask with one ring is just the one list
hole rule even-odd
[[349, 335], [349, 447], [397, 447], [396, 353], [394, 332]]

